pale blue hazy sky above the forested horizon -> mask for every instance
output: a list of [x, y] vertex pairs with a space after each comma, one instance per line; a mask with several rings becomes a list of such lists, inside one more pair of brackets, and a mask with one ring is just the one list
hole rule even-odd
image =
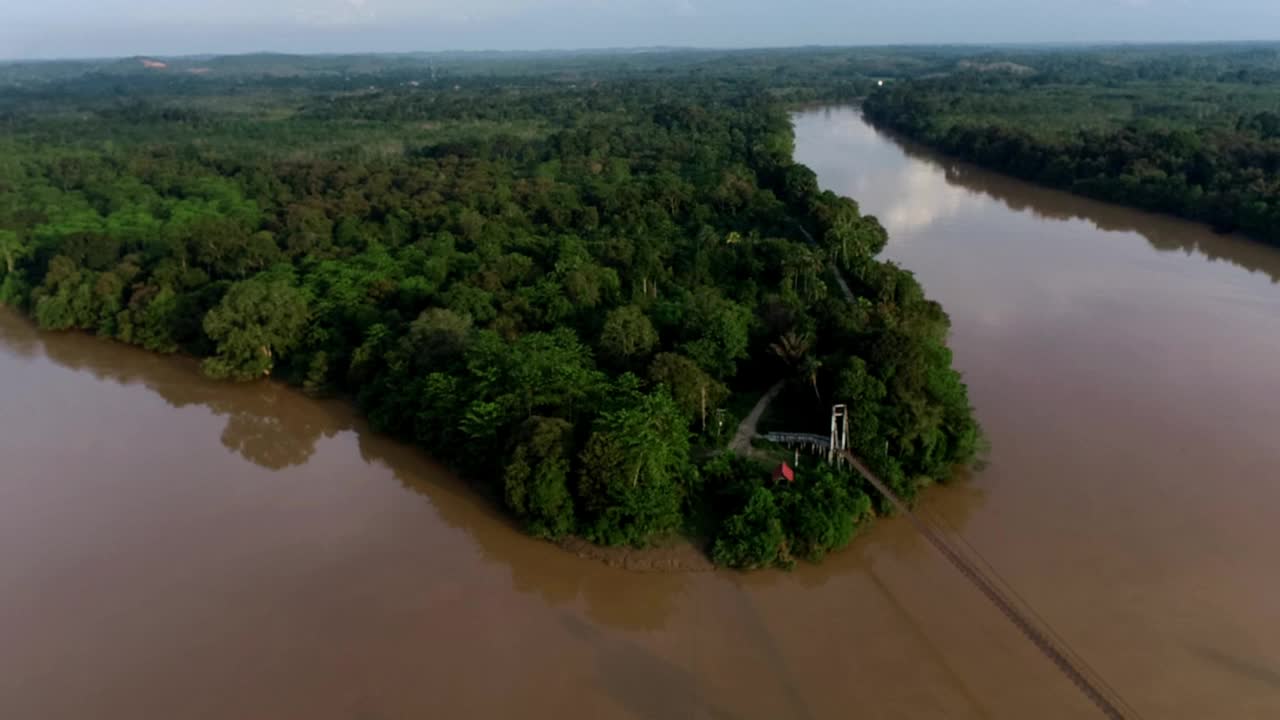
[[1280, 38], [1280, 0], [0, 0], [0, 58]]

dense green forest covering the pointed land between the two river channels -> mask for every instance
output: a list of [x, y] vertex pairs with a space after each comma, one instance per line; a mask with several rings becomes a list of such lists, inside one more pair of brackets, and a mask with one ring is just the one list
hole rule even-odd
[[539, 537], [818, 559], [878, 505], [724, 451], [744, 401], [849, 404], [909, 498], [979, 430], [946, 314], [787, 109], [940, 53], [5, 65], [0, 302], [349, 397]]

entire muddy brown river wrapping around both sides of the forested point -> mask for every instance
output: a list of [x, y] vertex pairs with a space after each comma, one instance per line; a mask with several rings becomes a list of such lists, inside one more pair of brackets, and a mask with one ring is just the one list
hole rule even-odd
[[[951, 314], [945, 518], [1147, 717], [1280, 716], [1280, 252], [796, 117]], [[0, 717], [1089, 717], [902, 520], [792, 573], [522, 537], [340, 402], [0, 311]]]

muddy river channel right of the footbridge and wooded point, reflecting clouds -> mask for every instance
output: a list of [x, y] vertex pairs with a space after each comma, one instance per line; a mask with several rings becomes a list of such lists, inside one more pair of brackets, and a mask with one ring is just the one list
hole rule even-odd
[[1280, 715], [1280, 252], [904, 143], [799, 159], [951, 314], [992, 441], [966, 534], [1147, 716]]

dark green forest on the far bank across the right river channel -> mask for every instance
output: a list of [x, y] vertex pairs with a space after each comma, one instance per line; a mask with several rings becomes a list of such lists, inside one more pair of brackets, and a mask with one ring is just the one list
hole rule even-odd
[[989, 54], [864, 110], [1020, 178], [1280, 243], [1275, 45]]

